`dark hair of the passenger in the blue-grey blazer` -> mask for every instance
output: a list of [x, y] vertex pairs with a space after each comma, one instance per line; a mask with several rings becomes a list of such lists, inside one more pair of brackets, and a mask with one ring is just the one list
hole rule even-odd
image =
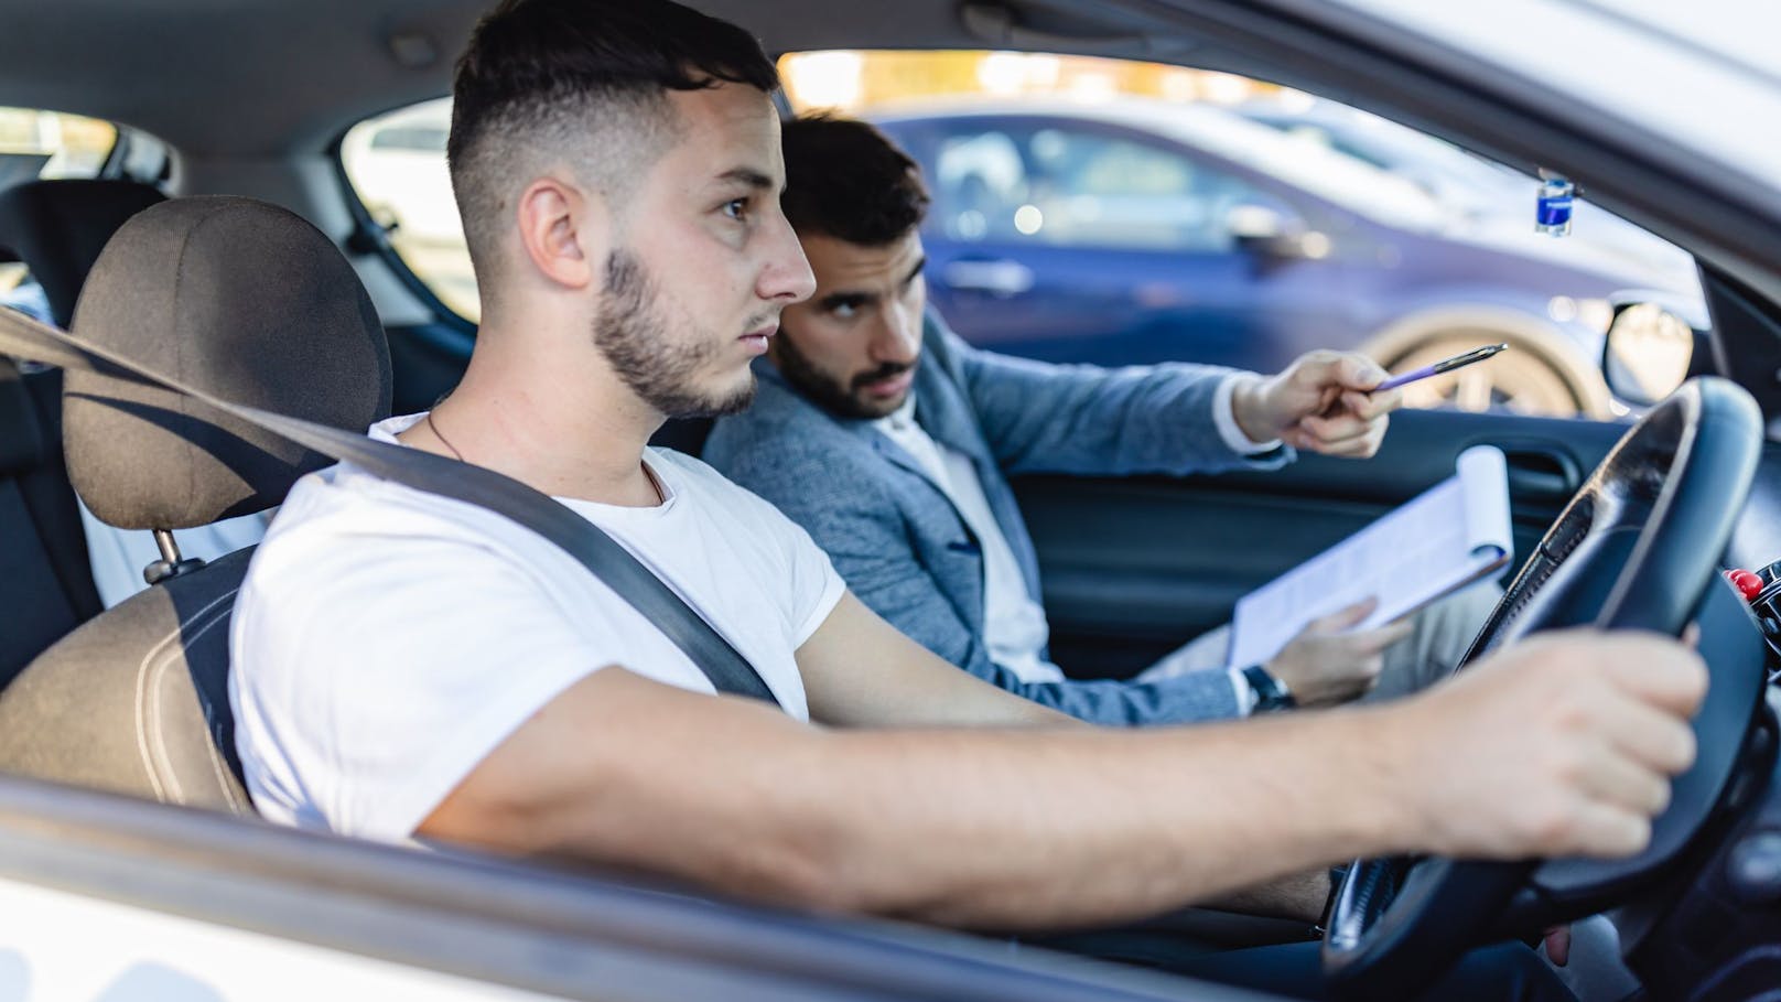
[[899, 241], [928, 214], [921, 168], [864, 121], [807, 114], [785, 123], [782, 144], [780, 205], [800, 234], [876, 248]]

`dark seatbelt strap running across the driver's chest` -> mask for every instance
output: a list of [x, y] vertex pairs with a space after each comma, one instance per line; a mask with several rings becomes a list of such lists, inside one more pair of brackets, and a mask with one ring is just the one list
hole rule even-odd
[[301, 417], [285, 417], [271, 410], [214, 398], [107, 348], [77, 341], [16, 310], [0, 308], [0, 353], [167, 389], [324, 456], [351, 462], [385, 480], [488, 508], [541, 535], [579, 560], [595, 578], [618, 592], [618, 597], [630, 603], [634, 610], [666, 633], [668, 640], [686, 653], [698, 670], [705, 672], [718, 692], [778, 704], [773, 690], [760, 679], [760, 672], [618, 540], [556, 497], [511, 476], [420, 449], [378, 442]]

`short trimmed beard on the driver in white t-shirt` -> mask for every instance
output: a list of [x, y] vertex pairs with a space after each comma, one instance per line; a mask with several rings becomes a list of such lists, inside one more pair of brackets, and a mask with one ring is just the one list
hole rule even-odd
[[593, 346], [643, 403], [668, 417], [720, 417], [746, 410], [755, 376], [725, 392], [702, 390], [698, 374], [723, 349], [723, 341], [693, 335], [675, 341], [661, 316], [661, 296], [643, 262], [614, 250], [606, 259], [606, 289], [593, 323]]

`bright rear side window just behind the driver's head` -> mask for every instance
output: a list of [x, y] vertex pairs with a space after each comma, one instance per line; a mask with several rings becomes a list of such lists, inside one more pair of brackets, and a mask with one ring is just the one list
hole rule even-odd
[[481, 301], [445, 166], [449, 134], [451, 98], [424, 102], [354, 125], [340, 141], [340, 162], [401, 266], [474, 323]]

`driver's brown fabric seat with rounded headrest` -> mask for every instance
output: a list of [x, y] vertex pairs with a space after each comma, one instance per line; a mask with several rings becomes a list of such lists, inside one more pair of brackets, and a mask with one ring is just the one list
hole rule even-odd
[[[390, 355], [353, 267], [297, 216], [187, 198], [130, 219], [73, 333], [224, 399], [363, 431]], [[182, 530], [278, 505], [333, 460], [183, 396], [69, 373], [69, 474], [107, 524]], [[251, 551], [166, 579], [45, 651], [0, 692], [0, 768], [251, 813], [228, 701], [228, 622]]]

